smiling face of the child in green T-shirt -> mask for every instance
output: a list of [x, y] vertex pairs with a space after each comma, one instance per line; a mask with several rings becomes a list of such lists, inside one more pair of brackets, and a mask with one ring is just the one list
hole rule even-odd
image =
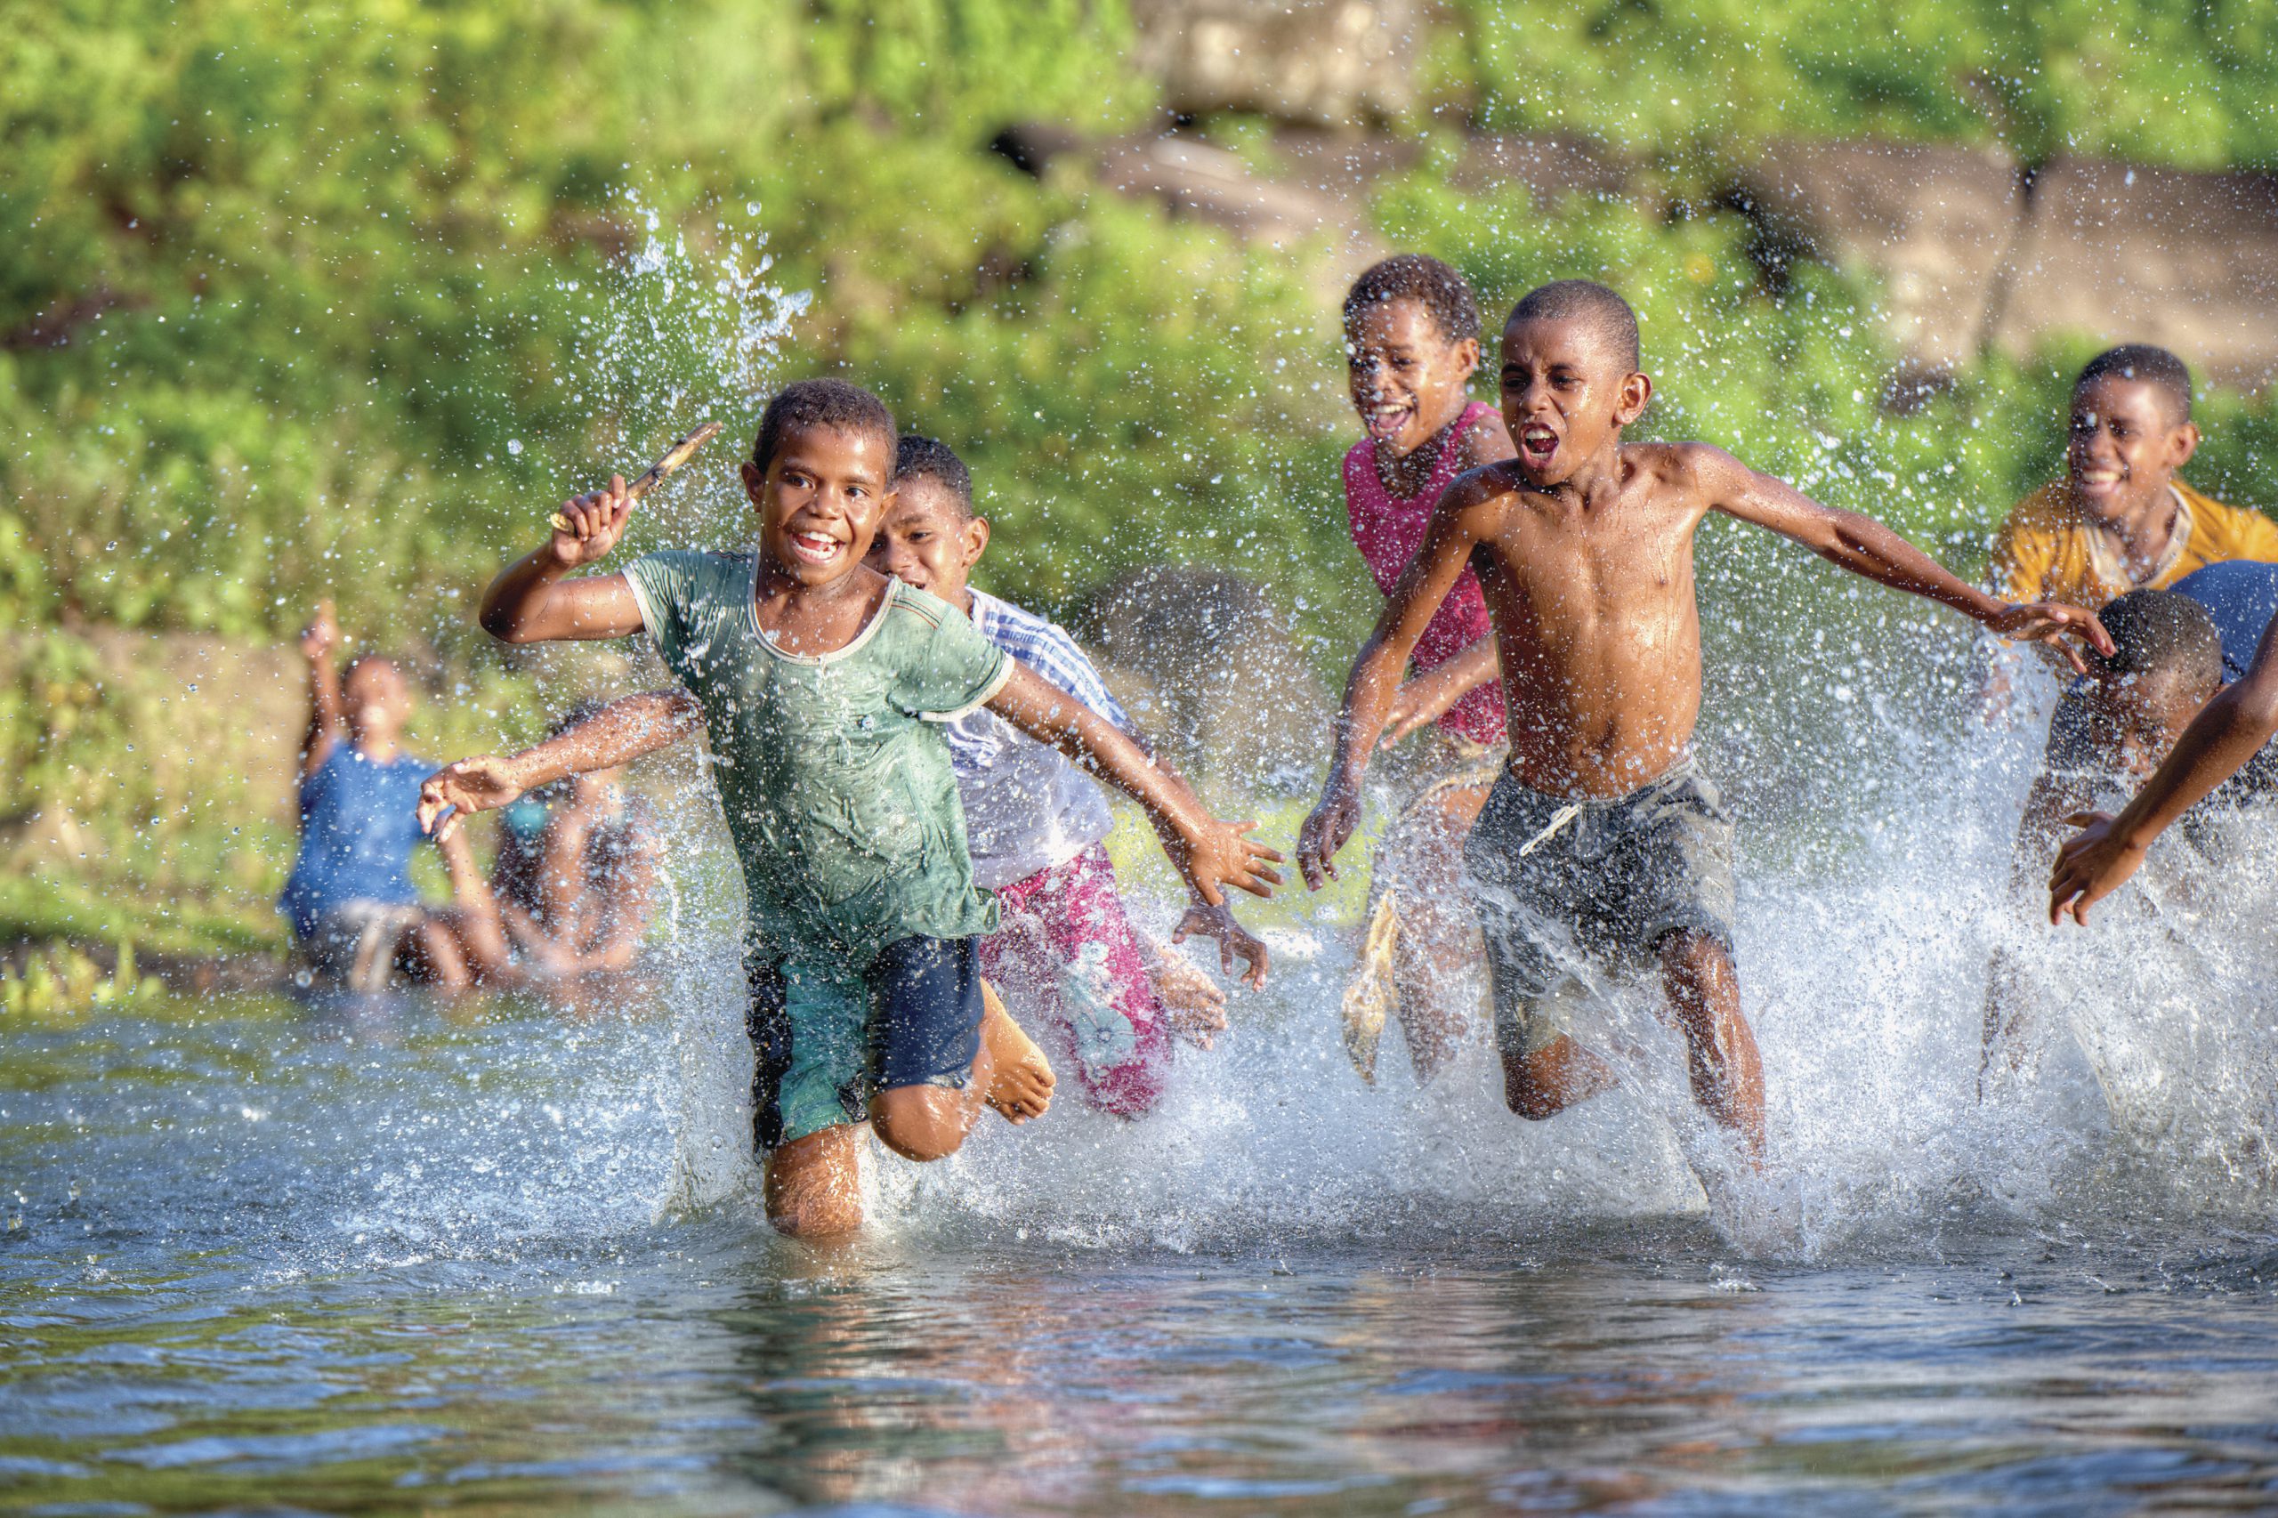
[[759, 513], [761, 563], [802, 586], [845, 579], [870, 552], [893, 499], [888, 433], [806, 426], [786, 431], [761, 474], [743, 467]]

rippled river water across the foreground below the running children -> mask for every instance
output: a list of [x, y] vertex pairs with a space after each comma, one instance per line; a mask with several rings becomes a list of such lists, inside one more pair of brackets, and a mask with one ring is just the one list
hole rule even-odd
[[2278, 1507], [2251, 1217], [1948, 1185], [1747, 1260], [1638, 1103], [1522, 1131], [1262, 1028], [818, 1251], [708, 1115], [720, 980], [9, 1030], [0, 1504]]

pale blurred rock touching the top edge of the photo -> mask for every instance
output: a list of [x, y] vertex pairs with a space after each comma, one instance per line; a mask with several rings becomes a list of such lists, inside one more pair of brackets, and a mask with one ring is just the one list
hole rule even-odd
[[1134, 62], [1187, 116], [1390, 121], [1415, 105], [1419, 9], [1415, 0], [1134, 0]]

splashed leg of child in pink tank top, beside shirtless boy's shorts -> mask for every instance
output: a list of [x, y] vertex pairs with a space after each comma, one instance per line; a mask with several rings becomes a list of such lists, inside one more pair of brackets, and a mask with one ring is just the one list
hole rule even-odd
[[1447, 786], [1385, 836], [1376, 873], [1399, 884], [1392, 985], [1417, 1080], [1437, 1076], [1469, 1033], [1465, 991], [1478, 962], [1478, 916], [1462, 889], [1462, 841], [1490, 786]]

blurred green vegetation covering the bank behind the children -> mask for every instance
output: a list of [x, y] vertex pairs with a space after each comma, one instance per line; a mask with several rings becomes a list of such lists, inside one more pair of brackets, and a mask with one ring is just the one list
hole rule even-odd
[[[2273, 162], [2278, 23], [2244, 7], [1968, 0], [1877, 30], [1829, 0], [1453, 11], [1437, 98], [1679, 180], [1781, 132]], [[185, 725], [189, 677], [103, 638], [248, 656], [333, 595], [451, 691], [431, 752], [528, 732], [544, 700], [469, 629], [472, 593], [563, 492], [695, 415], [747, 435], [786, 376], [843, 367], [966, 451], [1011, 595], [1064, 609], [1125, 565], [1230, 563], [1324, 668], [1374, 606], [1337, 492], [1335, 253], [1248, 248], [986, 148], [1011, 119], [1105, 132], [1157, 109], [1112, 0], [80, 0], [5, 21], [0, 939], [278, 944], [276, 757]], [[2055, 460], [2089, 337], [1895, 415], [1852, 271], [1775, 292], [1736, 217], [1465, 194], [1449, 160], [1380, 189], [1385, 237], [1465, 267], [1488, 310], [1558, 274], [1622, 285], [1665, 435], [1959, 568]], [[2278, 410], [2216, 394], [2205, 415], [2198, 479], [2278, 501]], [[633, 547], [743, 531], [715, 449]], [[1731, 588], [1770, 561], [1720, 563]]]

